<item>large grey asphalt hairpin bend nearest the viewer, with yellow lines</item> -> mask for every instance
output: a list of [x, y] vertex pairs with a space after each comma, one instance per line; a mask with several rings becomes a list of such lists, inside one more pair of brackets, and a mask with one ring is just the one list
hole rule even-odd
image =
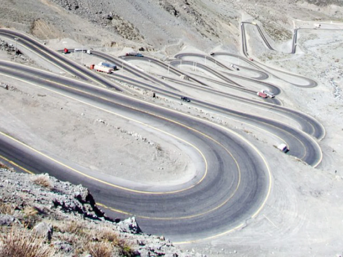
[[[5, 140], [6, 138], [1, 140], [0, 154], [2, 156], [35, 173], [48, 172], [61, 180], [82, 183], [90, 188], [95, 199], [102, 204], [138, 217], [171, 218], [170, 220], [140, 218], [140, 225], [147, 233], [164, 234], [174, 240], [190, 240], [212, 235], [237, 225], [242, 219], [247, 219], [256, 211], [267, 194], [268, 170], [258, 153], [239, 136], [210, 122], [156, 108], [123, 95], [114, 95], [101, 88], [93, 90], [92, 86], [87, 86], [83, 82], [50, 76], [46, 72], [15, 71], [3, 68], [2, 65], [0, 70], [1, 73], [19, 77], [34, 84], [62, 89], [68, 92], [68, 95], [72, 94], [73, 97], [91, 102], [96, 106], [106, 106], [109, 110], [127, 115], [127, 117], [134, 117], [141, 122], [148, 121], [150, 125], [154, 124], [156, 127], [172, 131], [176, 136], [182, 136], [183, 139], [200, 149], [208, 165], [208, 172], [201, 183], [198, 182], [196, 186], [178, 193], [155, 195], [130, 192], [86, 179], [66, 167], [60, 167], [58, 163], [40, 156], [27, 147]], [[64, 88], [61, 85], [70, 87]], [[80, 91], [73, 91], [72, 87], [91, 91], [92, 94], [84, 95]], [[108, 97], [111, 101], [105, 101], [104, 98], [98, 96]], [[139, 110], [129, 106], [134, 106]], [[156, 115], [161, 115], [163, 118]], [[199, 159], [201, 160], [200, 157]], [[201, 173], [203, 170], [198, 172]], [[197, 183], [193, 181], [192, 184], [194, 182]], [[187, 186], [182, 185], [185, 188]], [[143, 188], [131, 189], [142, 190]], [[149, 189], [146, 188], [145, 191]], [[164, 187], [164, 190], [167, 189], [168, 187]], [[227, 199], [230, 200], [226, 204], [217, 210], [212, 210], [225, 203]], [[180, 217], [192, 215], [196, 217], [180, 219]], [[223, 225], [223, 217], [230, 222]], [[213, 222], [205, 222], [208, 220], [213, 220]]]

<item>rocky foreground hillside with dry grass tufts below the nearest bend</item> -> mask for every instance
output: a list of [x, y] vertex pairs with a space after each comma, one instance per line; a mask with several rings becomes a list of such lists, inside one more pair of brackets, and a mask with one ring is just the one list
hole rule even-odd
[[0, 168], [0, 256], [188, 256], [135, 218], [110, 220], [87, 188]]

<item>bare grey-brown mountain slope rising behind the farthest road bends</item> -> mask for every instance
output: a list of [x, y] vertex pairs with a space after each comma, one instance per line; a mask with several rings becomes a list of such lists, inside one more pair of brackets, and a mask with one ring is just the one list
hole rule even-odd
[[274, 40], [291, 37], [294, 18], [342, 19], [342, 8], [337, 6], [342, 1], [308, 1], [3, 0], [0, 26], [40, 39], [69, 37], [89, 46], [161, 50], [176, 45], [173, 51], [177, 51], [186, 44], [206, 51], [217, 45], [239, 49], [242, 14], [259, 20]]

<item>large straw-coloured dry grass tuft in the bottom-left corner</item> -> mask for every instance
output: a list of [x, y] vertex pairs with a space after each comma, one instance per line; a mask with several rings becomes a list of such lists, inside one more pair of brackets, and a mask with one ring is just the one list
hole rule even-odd
[[49, 257], [55, 250], [27, 230], [12, 227], [0, 235], [0, 257]]

